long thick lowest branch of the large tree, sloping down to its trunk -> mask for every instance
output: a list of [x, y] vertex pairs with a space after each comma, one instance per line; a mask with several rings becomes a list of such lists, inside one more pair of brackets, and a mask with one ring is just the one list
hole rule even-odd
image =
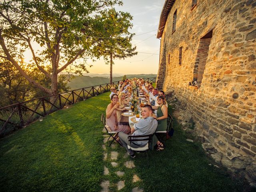
[[52, 91], [50, 89], [47, 89], [47, 88], [43, 87], [42, 85], [38, 84], [35, 80], [30, 78], [30, 76], [28, 76], [28, 74], [26, 74], [26, 72], [12, 58], [12, 56], [10, 55], [10, 53], [9, 53], [8, 49], [6, 48], [6, 45], [4, 43], [4, 38], [2, 37], [2, 30], [1, 29], [0, 29], [0, 45], [1, 45], [2, 49], [4, 50], [4, 53], [6, 54], [6, 59], [9, 60], [17, 68], [17, 70], [20, 72], [20, 74], [22, 76], [24, 76], [24, 78], [26, 78], [26, 80], [28, 80], [28, 82], [30, 82], [31, 84], [33, 84], [37, 88], [41, 89], [42, 91], [47, 92], [48, 94], [52, 93]]

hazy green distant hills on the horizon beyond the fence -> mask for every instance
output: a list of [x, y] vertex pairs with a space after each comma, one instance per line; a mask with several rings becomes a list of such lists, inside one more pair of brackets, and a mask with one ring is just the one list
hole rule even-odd
[[[127, 78], [148, 78], [156, 77], [156, 74], [130, 74], [126, 75]], [[109, 83], [110, 79], [106, 77], [90, 77], [90, 76], [74, 76], [75, 78], [71, 79], [68, 83], [70, 90], [79, 89], [83, 87], [90, 87], [94, 85], [100, 85]], [[69, 77], [68, 77], [69, 78]], [[123, 76], [113, 77], [113, 82], [122, 80]]]

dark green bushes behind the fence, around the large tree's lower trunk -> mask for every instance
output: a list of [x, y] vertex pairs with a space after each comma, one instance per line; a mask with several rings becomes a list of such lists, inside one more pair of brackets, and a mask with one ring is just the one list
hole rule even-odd
[[[21, 64], [21, 67], [36, 82], [46, 88], [50, 88], [50, 78], [45, 77], [38, 68], [31, 64], [25, 65], [24, 63]], [[58, 92], [67, 91], [69, 88], [67, 87], [67, 83], [66, 76], [58, 76]], [[0, 94], [0, 107], [46, 96], [45, 92], [31, 85], [14, 65], [2, 58], [0, 58]]]

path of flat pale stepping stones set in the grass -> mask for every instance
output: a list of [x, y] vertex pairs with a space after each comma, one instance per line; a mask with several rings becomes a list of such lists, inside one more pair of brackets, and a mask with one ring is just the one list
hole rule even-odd
[[[114, 149], [119, 146], [118, 144], [116, 143], [112, 143], [110, 148], [108, 148], [108, 135], [106, 135], [106, 130], [103, 129], [102, 132], [104, 133], [103, 136], [104, 136], [104, 144], [102, 145], [102, 148], [104, 150], [104, 153], [103, 153], [103, 160], [108, 162], [110, 161], [110, 164], [112, 165], [112, 167], [114, 168], [118, 168], [120, 166], [120, 164], [118, 164], [118, 162], [116, 162], [118, 160], [118, 152], [116, 152]], [[111, 142], [111, 140], [110, 140]], [[111, 152], [107, 151], [107, 148], [108, 149], [111, 149]], [[125, 150], [125, 149], [124, 149]], [[109, 154], [109, 155], [108, 155]], [[119, 158], [124, 158], [126, 160], [126, 162], [124, 162], [124, 164], [121, 164], [121, 165], [124, 165], [126, 168], [128, 169], [131, 169], [133, 167], [135, 167], [135, 164], [133, 161], [130, 160], [130, 157], [127, 153], [124, 154], [124, 156], [119, 156]], [[112, 169], [110, 167], [107, 167], [107, 165], [104, 166], [104, 172], [103, 172], [103, 175], [110, 175], [110, 173], [112, 172]], [[125, 172], [122, 172], [120, 170], [118, 171], [115, 171], [114, 172], [117, 176], [119, 176], [120, 178], [122, 178], [126, 173]], [[132, 177], [132, 182], [135, 184], [136, 182], [139, 182], [141, 181], [141, 179], [136, 175], [134, 174], [133, 176], [130, 176]], [[121, 190], [122, 188], [125, 188], [125, 180], [120, 180], [118, 181], [116, 184], [114, 184], [116, 187], [117, 187], [117, 190]], [[100, 184], [100, 186], [102, 187], [102, 190], [101, 192], [110, 192], [109, 190], [109, 187], [110, 187], [110, 181], [108, 180], [103, 180]], [[111, 186], [113, 186], [113, 183], [111, 184]], [[132, 192], [143, 192], [143, 189], [139, 188], [139, 187], [134, 187], [132, 189]]]

